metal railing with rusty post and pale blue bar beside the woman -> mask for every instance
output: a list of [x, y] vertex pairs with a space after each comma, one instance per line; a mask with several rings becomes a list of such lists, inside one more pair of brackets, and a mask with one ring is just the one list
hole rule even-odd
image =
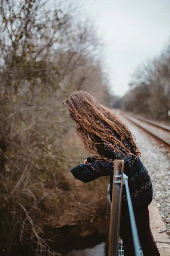
[[140, 256], [139, 252], [139, 237], [135, 223], [135, 215], [133, 211], [131, 196], [128, 186], [128, 177], [123, 173], [124, 161], [114, 160], [113, 173], [113, 188], [112, 188], [112, 203], [110, 201], [110, 183], [108, 178], [107, 185], [107, 221], [106, 221], [106, 256], [117, 256], [119, 245], [119, 231], [120, 231], [120, 214], [121, 214], [121, 200], [122, 188], [125, 185], [127, 203], [129, 209], [129, 216], [131, 222], [132, 236], [134, 242], [135, 256]]

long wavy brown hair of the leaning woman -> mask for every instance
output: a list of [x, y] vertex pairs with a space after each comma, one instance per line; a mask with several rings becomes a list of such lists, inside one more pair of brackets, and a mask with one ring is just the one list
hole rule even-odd
[[[76, 132], [83, 142], [85, 152], [95, 156], [96, 159], [107, 160], [102, 150], [113, 148], [120, 154], [120, 152], [123, 153], [119, 149], [120, 145], [129, 155], [141, 157], [135, 143], [136, 139], [135, 141], [133, 139], [135, 136], [129, 128], [117, 114], [101, 104], [91, 94], [74, 92], [63, 104], [68, 109], [70, 117], [76, 121]], [[130, 147], [127, 140], [130, 142]]]

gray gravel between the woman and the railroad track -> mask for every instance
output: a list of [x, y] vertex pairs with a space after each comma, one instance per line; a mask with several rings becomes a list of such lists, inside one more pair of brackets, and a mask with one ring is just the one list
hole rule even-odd
[[[166, 225], [170, 236], [170, 149], [164, 148], [154, 137], [142, 128], [120, 117], [135, 135], [136, 142], [142, 154], [141, 161], [149, 172], [153, 197]], [[169, 237], [170, 238], [170, 237]]]

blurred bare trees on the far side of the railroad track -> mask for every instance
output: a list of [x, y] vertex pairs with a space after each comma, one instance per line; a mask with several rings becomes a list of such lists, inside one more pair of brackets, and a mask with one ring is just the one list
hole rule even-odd
[[157, 120], [170, 119], [170, 43], [158, 58], [135, 70], [130, 87], [121, 99], [124, 110]]

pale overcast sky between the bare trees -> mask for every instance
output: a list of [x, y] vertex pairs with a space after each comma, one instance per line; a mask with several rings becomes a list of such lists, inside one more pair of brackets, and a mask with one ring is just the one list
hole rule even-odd
[[170, 39], [170, 0], [86, 0], [83, 8], [105, 42], [112, 92], [123, 96], [134, 69]]

